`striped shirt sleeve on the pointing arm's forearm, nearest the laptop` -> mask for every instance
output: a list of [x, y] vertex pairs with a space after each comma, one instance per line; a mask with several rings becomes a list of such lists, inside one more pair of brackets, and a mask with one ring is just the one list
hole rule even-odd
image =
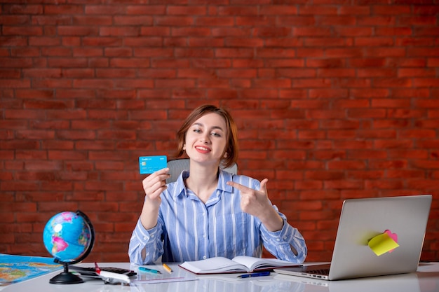
[[[273, 208], [278, 211], [276, 206]], [[297, 228], [292, 227], [284, 214], [278, 214], [283, 218], [283, 228], [271, 232], [261, 224], [261, 235], [264, 246], [273, 256], [280, 260], [288, 260], [292, 263], [304, 263], [308, 249], [306, 248], [305, 239]], [[297, 255], [293, 251], [297, 251]]]

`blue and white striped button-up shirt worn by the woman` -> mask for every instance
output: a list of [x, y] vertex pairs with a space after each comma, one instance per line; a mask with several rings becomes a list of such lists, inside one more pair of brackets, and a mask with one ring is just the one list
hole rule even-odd
[[[259, 190], [259, 181], [248, 176], [219, 171], [218, 186], [205, 204], [185, 188], [182, 172], [177, 181], [168, 184], [161, 193], [161, 205], [156, 227], [146, 230], [137, 221], [130, 239], [130, 262], [146, 265], [162, 256], [163, 262], [184, 262], [215, 256], [262, 256], [262, 244], [267, 251], [281, 260], [303, 263], [306, 244], [300, 232], [287, 223], [285, 215], [282, 230], [270, 232], [255, 216], [241, 210], [238, 189], [227, 181]], [[273, 208], [278, 211], [276, 206]], [[297, 251], [292, 252], [291, 246]], [[145, 249], [145, 258], [142, 250]]]

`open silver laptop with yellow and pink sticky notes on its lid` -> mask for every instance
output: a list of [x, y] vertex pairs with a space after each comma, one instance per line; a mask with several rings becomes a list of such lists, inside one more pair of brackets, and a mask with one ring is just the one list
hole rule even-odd
[[[415, 272], [424, 244], [431, 200], [431, 195], [344, 200], [331, 262], [281, 267], [274, 272], [324, 280]], [[393, 242], [389, 237], [383, 237], [384, 233]], [[379, 256], [377, 245], [372, 245], [373, 249], [369, 246], [372, 238], [374, 242], [380, 239]], [[390, 249], [389, 242], [399, 246], [391, 245]], [[383, 253], [383, 246], [388, 251]]]

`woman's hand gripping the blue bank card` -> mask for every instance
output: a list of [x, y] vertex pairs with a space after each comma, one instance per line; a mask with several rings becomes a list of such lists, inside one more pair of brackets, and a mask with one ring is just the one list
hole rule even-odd
[[169, 168], [160, 169], [152, 174], [149, 174], [143, 181], [143, 190], [146, 195], [145, 202], [159, 207], [161, 204], [160, 194], [168, 188], [166, 186], [166, 179], [170, 177]]

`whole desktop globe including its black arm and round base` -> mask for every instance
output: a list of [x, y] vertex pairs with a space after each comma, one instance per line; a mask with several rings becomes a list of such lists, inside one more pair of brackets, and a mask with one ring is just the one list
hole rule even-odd
[[81, 262], [93, 249], [95, 232], [90, 220], [81, 211], [64, 211], [46, 223], [43, 242], [55, 263], [64, 265], [64, 272], [50, 279], [51, 284], [76, 284], [83, 279], [69, 272], [69, 265]]

